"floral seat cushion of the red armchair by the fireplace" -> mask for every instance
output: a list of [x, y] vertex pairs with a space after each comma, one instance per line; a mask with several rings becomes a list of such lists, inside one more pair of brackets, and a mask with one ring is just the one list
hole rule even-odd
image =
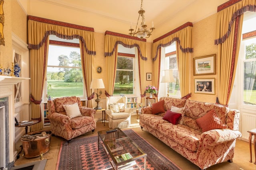
[[88, 116], [78, 116], [70, 119], [72, 129], [79, 129], [80, 127], [90, 125], [91, 123], [93, 123], [93, 119]]

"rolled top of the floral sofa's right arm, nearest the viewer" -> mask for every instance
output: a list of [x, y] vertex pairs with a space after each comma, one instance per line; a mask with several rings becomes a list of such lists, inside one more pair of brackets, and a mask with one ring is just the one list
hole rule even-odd
[[213, 129], [202, 133], [200, 141], [204, 143], [204, 146], [214, 146], [228, 141], [233, 141], [236, 138], [241, 137], [241, 135], [240, 131], [232, 131], [230, 129]]

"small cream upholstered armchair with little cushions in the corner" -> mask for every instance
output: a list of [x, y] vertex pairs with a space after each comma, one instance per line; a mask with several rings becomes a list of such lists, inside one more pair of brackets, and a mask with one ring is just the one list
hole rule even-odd
[[132, 109], [126, 108], [126, 96], [110, 96], [106, 98], [106, 113], [108, 127], [126, 128], [131, 124]]

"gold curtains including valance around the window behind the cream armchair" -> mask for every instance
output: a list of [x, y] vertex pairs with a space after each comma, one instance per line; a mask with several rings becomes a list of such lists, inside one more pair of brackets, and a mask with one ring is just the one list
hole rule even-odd
[[[140, 94], [144, 93], [145, 81], [146, 81], [146, 72], [145, 72], [145, 61], [147, 60], [146, 56], [146, 39], [139, 39], [137, 37], [131, 37], [130, 35], [124, 35], [120, 33], [113, 33], [106, 31], [105, 33], [105, 57], [107, 59], [107, 92], [110, 95], [113, 95], [114, 92], [114, 82], [116, 74], [116, 64], [117, 64], [117, 52], [118, 44], [123, 45], [126, 48], [138, 48], [138, 58], [139, 58], [139, 76], [140, 76]], [[113, 76], [114, 75], [114, 76]]]

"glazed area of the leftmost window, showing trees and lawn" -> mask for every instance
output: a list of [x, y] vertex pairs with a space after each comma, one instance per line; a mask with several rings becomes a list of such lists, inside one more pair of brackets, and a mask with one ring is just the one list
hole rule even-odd
[[47, 95], [52, 98], [83, 96], [80, 49], [49, 46]]

